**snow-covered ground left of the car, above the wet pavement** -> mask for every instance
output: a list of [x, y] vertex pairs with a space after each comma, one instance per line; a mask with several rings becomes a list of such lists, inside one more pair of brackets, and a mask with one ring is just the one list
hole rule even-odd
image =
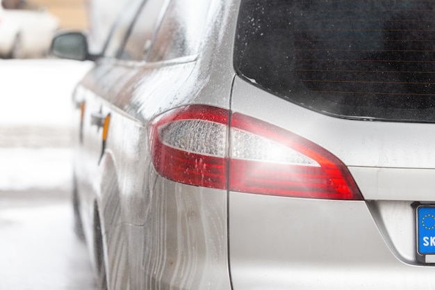
[[70, 189], [71, 95], [91, 66], [0, 60], [0, 191]]

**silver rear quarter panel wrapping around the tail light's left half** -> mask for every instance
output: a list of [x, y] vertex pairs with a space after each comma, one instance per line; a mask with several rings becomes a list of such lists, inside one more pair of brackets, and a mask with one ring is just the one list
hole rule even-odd
[[[227, 191], [159, 177], [149, 154], [149, 122], [210, 90], [198, 75], [195, 61], [108, 62], [83, 81], [110, 113], [99, 177], [88, 183], [100, 207], [112, 289], [229, 289]], [[95, 86], [101, 77], [113, 81]], [[229, 102], [228, 95], [216, 99]], [[92, 216], [91, 204], [86, 208]]]

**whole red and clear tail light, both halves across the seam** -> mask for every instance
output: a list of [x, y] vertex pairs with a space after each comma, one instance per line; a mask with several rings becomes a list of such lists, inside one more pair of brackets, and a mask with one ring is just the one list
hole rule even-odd
[[[229, 148], [229, 149], [228, 149]], [[361, 200], [336, 156], [261, 120], [211, 106], [186, 106], [152, 126], [156, 171], [174, 182], [243, 193]]]

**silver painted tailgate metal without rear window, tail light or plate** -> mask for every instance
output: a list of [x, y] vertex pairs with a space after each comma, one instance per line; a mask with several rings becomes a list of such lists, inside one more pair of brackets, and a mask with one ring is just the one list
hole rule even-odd
[[[409, 289], [411, 283], [412, 289], [433, 287], [430, 277], [434, 269], [413, 266], [420, 264], [413, 204], [434, 202], [435, 163], [430, 145], [435, 142], [430, 134], [434, 124], [334, 118], [271, 98], [255, 83], [238, 77], [231, 102], [233, 112], [283, 127], [329, 150], [348, 166], [367, 200], [334, 203], [230, 192], [234, 289], [255, 289], [257, 285], [258, 289], [266, 285], [274, 289], [388, 289], [383, 276], [377, 275], [382, 264], [388, 269], [385, 281], [391, 280], [388, 285], [394, 289]], [[337, 206], [334, 209], [333, 204]], [[254, 227], [252, 232], [247, 232], [247, 225]], [[283, 271], [288, 271], [288, 278], [283, 278]], [[339, 283], [329, 279], [331, 271], [346, 278]], [[311, 273], [320, 275], [318, 280], [310, 280]], [[418, 278], [412, 282], [414, 276]]]

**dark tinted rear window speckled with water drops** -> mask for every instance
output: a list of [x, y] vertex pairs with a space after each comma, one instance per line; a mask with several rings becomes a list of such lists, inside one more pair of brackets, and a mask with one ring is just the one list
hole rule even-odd
[[234, 66], [314, 111], [435, 122], [434, 8], [434, 0], [242, 0]]

